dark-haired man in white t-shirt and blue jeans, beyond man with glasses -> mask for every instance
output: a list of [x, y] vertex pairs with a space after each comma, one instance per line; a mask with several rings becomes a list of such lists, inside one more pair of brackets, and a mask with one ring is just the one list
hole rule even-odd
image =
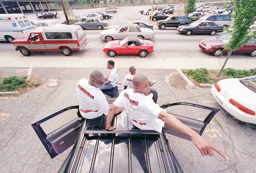
[[107, 68], [111, 69], [107, 80], [105, 81], [104, 85], [100, 88], [102, 92], [107, 89], [112, 89], [116, 87], [117, 80], [118, 80], [118, 74], [117, 74], [117, 69], [115, 67], [115, 62], [110, 60], [107, 63]]

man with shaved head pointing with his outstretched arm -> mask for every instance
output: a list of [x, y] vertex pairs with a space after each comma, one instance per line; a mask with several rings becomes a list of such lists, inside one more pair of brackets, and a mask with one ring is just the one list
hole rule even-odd
[[225, 159], [228, 159], [224, 153], [215, 148], [209, 141], [204, 139], [194, 130], [184, 125], [173, 115], [166, 112], [154, 101], [146, 96], [150, 92], [148, 78], [144, 75], [135, 75], [133, 78], [134, 89], [123, 90], [119, 97], [113, 102], [107, 117], [106, 130], [114, 130], [111, 126], [111, 121], [115, 110], [118, 107], [124, 107], [131, 122], [134, 126], [141, 130], [155, 130], [158, 133], [162, 132], [164, 125], [168, 125], [173, 129], [191, 137], [193, 144], [198, 148], [203, 156], [213, 156], [212, 150], [215, 150]]

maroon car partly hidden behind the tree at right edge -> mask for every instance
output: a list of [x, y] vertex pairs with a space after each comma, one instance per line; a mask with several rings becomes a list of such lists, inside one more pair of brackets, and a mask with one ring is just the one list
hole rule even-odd
[[[221, 53], [227, 53], [222, 46], [227, 44], [230, 38], [230, 33], [221, 35], [216, 38], [204, 39], [199, 43], [199, 47], [204, 50], [204, 52], [211, 53], [213, 56], [219, 56]], [[244, 44], [240, 49], [233, 51], [233, 53], [246, 53], [249, 56], [256, 56], [256, 40], [249, 40], [248, 43]]]

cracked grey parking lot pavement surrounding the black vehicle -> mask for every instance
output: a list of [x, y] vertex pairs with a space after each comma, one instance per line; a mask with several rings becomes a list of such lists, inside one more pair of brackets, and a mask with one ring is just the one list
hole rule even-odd
[[[36, 136], [31, 124], [68, 106], [77, 105], [76, 83], [80, 78], [88, 78], [94, 69], [35, 68], [35, 77], [46, 79], [46, 83], [16, 99], [0, 99], [0, 114], [9, 114], [0, 120], [0, 173], [56, 173], [72, 147], [51, 159], [43, 144]], [[99, 69], [108, 75], [107, 69]], [[24, 75], [26, 69], [1, 68], [0, 77]], [[119, 82], [122, 83], [128, 69], [119, 69]], [[218, 154], [214, 157], [201, 156], [191, 141], [166, 135], [170, 147], [185, 173], [256, 172], [256, 125], [233, 119], [210, 95], [209, 88], [192, 89], [175, 70], [137, 69], [149, 80], [157, 80], [153, 86], [158, 92], [158, 104], [190, 102], [220, 111], [204, 130], [203, 137], [223, 151], [230, 160]], [[58, 78], [58, 86], [48, 87], [51, 79]], [[209, 102], [205, 102], [209, 101]], [[207, 111], [187, 107], [168, 108], [169, 112], [204, 119]], [[66, 117], [67, 116], [67, 117]], [[58, 118], [44, 128], [54, 130], [76, 113]], [[57, 128], [56, 127], [56, 128]]]

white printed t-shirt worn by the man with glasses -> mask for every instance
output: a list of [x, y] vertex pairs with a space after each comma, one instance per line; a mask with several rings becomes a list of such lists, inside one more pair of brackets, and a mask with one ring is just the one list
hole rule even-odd
[[79, 101], [79, 111], [84, 118], [92, 119], [108, 115], [109, 105], [103, 92], [88, 84], [87, 79], [80, 79], [76, 85]]

